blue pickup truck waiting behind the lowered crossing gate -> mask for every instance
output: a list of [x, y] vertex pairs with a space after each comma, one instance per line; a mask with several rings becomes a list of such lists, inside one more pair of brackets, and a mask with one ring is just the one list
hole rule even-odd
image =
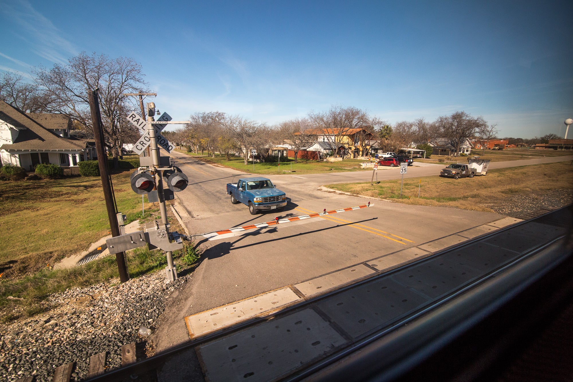
[[267, 178], [242, 178], [237, 183], [227, 183], [227, 194], [231, 203], [248, 205], [251, 215], [262, 210], [282, 211], [286, 205], [286, 194], [274, 188]]

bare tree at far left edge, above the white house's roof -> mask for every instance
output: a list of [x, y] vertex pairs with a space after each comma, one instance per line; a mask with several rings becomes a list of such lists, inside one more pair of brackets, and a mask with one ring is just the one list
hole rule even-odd
[[49, 95], [42, 92], [38, 85], [10, 72], [0, 78], [0, 99], [28, 113], [44, 112], [51, 103]]

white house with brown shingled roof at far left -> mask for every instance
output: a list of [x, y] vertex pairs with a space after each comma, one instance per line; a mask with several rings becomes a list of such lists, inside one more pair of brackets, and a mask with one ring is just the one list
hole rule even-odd
[[77, 163], [96, 156], [95, 148], [70, 137], [72, 120], [62, 114], [25, 113], [0, 101], [0, 160], [33, 171], [55, 163], [72, 174]]

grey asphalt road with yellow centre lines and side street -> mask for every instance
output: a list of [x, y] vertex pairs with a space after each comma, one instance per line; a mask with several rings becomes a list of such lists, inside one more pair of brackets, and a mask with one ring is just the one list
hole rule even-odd
[[[189, 213], [184, 219], [192, 235], [274, 217], [306, 215], [367, 203], [366, 198], [318, 190], [329, 183], [370, 181], [371, 171], [268, 176], [290, 198], [282, 213], [250, 215], [243, 204], [233, 205], [226, 184], [244, 176], [237, 170], [210, 165], [189, 155], [172, 154], [189, 176], [186, 190], [177, 194]], [[525, 161], [494, 162], [490, 168], [567, 161], [551, 157]], [[437, 175], [442, 165], [421, 163], [409, 167], [406, 177]], [[378, 180], [399, 178], [398, 168], [377, 171]], [[313, 218], [278, 227], [243, 232], [221, 240], [197, 237], [205, 249], [191, 281], [171, 298], [158, 323], [158, 351], [189, 340], [183, 318], [187, 315], [238, 301], [265, 291], [295, 284], [413, 247], [464, 229], [500, 219], [496, 213], [456, 208], [413, 206], [372, 200], [374, 206], [335, 216]]]

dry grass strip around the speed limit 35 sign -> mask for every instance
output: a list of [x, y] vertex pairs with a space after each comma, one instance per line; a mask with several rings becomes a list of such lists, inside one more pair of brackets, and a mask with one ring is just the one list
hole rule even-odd
[[[568, 162], [513, 167], [488, 171], [487, 176], [406, 178], [402, 196], [400, 180], [330, 184], [328, 188], [398, 201], [405, 204], [439, 205], [492, 212], [488, 205], [515, 194], [542, 195], [550, 190], [571, 189], [573, 166]], [[418, 186], [420, 197], [418, 198]]]

